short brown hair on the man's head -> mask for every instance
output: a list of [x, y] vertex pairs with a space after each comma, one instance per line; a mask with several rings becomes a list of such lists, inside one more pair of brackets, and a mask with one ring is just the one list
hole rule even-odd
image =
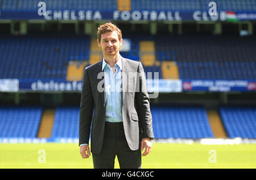
[[102, 34], [105, 34], [106, 32], [113, 32], [113, 31], [117, 31], [118, 39], [121, 40], [122, 31], [113, 23], [105, 23], [105, 24], [102, 24], [100, 27], [98, 27], [98, 32], [97, 32], [98, 41], [101, 41]]

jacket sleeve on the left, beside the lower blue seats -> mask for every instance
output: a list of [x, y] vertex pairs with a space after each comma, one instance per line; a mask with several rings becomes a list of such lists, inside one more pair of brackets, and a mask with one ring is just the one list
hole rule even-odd
[[90, 125], [93, 115], [93, 95], [88, 70], [85, 68], [79, 114], [79, 145], [89, 144]]

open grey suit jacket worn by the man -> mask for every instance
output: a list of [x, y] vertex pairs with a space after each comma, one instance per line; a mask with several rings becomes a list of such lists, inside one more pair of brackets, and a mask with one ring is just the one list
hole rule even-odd
[[[130, 149], [138, 150], [142, 138], [154, 137], [150, 98], [147, 94], [146, 78], [141, 62], [123, 57], [121, 60], [123, 128]], [[79, 145], [89, 144], [91, 133], [90, 150], [96, 154], [101, 152], [105, 131], [106, 108], [102, 61], [85, 68], [80, 102]]]

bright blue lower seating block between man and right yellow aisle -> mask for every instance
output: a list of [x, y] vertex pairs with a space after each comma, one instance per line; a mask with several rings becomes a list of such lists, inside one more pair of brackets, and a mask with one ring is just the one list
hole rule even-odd
[[203, 107], [151, 107], [156, 139], [213, 137], [207, 112]]

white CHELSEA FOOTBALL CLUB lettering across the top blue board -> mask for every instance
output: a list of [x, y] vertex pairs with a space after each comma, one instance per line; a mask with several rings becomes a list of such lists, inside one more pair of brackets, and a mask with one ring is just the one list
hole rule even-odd
[[[226, 20], [226, 12], [215, 12], [216, 15], [209, 15], [207, 11], [92, 11], [92, 10], [46, 10], [40, 12], [46, 20], [158, 20], [158, 21], [181, 21], [181, 20], [204, 20], [216, 21]], [[42, 14], [42, 15], [41, 15]], [[44, 15], [43, 15], [44, 14]]]

